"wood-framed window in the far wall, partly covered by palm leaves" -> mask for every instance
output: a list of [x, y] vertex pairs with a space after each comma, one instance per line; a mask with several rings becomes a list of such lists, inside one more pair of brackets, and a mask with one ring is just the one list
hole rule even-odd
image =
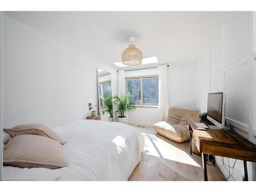
[[134, 96], [135, 105], [158, 106], [158, 75], [126, 78], [125, 92]]

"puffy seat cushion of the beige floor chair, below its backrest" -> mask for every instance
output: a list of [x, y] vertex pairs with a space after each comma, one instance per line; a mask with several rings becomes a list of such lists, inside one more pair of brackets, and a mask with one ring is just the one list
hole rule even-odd
[[188, 129], [183, 124], [169, 124], [166, 121], [160, 121], [153, 125], [158, 134], [167, 137], [178, 143], [189, 140]]

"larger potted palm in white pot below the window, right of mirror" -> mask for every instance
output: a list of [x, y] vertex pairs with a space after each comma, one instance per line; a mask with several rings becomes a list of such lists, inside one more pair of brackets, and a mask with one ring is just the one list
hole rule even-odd
[[136, 106], [134, 106], [133, 96], [130, 93], [124, 94], [122, 97], [115, 96], [113, 97], [114, 103], [117, 104], [117, 111], [120, 116], [117, 117], [117, 121], [121, 123], [127, 123], [127, 117], [125, 116], [126, 112], [131, 112], [136, 110]]

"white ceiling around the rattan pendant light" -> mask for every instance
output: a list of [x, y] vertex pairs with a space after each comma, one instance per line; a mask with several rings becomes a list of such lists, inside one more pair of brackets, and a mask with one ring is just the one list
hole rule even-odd
[[143, 57], [159, 63], [195, 60], [220, 27], [224, 12], [4, 12], [106, 65], [118, 68], [135, 36]]

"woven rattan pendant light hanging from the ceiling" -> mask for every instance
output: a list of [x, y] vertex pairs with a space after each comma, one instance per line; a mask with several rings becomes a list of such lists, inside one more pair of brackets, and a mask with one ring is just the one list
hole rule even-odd
[[134, 44], [135, 37], [130, 37], [130, 42], [128, 48], [122, 52], [122, 63], [126, 66], [138, 66], [142, 63], [143, 53]]

